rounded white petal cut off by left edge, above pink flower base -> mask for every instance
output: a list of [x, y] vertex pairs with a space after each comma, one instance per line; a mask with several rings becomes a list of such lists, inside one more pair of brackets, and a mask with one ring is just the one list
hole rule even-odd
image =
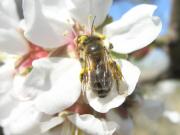
[[16, 30], [0, 29], [0, 51], [10, 54], [25, 54], [29, 51], [25, 39]]

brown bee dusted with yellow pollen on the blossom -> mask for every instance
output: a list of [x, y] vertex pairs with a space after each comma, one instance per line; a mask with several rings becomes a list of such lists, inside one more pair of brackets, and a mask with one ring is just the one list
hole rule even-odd
[[91, 89], [100, 98], [104, 98], [119, 81], [122, 80], [120, 67], [111, 58], [104, 46], [101, 35], [80, 35], [76, 40], [79, 57], [82, 63], [80, 75], [82, 90]]

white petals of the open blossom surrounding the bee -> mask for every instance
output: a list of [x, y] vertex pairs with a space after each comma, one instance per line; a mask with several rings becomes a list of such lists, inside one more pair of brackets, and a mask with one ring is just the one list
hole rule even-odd
[[[67, 13], [68, 18], [71, 17], [86, 27], [88, 16], [96, 16], [95, 26], [98, 26], [105, 20], [104, 13], [108, 13], [111, 5], [110, 0], [103, 4], [101, 2], [104, 1], [68, 0], [63, 10], [57, 10], [62, 3], [50, 2], [48, 5], [47, 1], [25, 0], [23, 4], [25, 36], [44, 48], [64, 45], [63, 33], [66, 31], [70, 33], [72, 24], [61, 17], [62, 13]], [[100, 4], [102, 8], [99, 8]], [[153, 16], [155, 9], [156, 6], [153, 5], [139, 5], [120, 20], [106, 25], [103, 34], [113, 43], [113, 51], [129, 53], [151, 43], [161, 30], [160, 19]], [[133, 92], [138, 81], [140, 71], [137, 67], [126, 60], [118, 60], [117, 64], [120, 65], [124, 77], [122, 89], [127, 93], [120, 95], [116, 89], [112, 89], [107, 97], [99, 98], [92, 90], [86, 91], [90, 106], [98, 112], [105, 113], [120, 106], [126, 96]], [[80, 70], [79, 61], [72, 58], [46, 58], [34, 62], [26, 87], [44, 91], [36, 99], [37, 108], [42, 112], [54, 114], [74, 104], [81, 93]]]

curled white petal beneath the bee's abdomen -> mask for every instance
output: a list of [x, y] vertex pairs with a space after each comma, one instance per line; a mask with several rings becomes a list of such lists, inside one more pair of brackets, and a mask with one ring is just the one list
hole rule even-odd
[[123, 75], [123, 80], [119, 82], [119, 89], [120, 92], [123, 92], [122, 94], [117, 91], [115, 84], [113, 85], [114, 88], [104, 98], [99, 98], [92, 90], [86, 91], [90, 106], [98, 112], [106, 113], [110, 109], [120, 106], [125, 98], [134, 91], [137, 84], [140, 75], [139, 69], [126, 60], [117, 60], [117, 62], [120, 64]]

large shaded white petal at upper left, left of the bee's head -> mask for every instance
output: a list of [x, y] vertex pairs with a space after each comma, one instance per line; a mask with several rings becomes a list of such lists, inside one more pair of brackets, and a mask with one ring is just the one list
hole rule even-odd
[[62, 21], [63, 19], [48, 18], [49, 16], [42, 12], [39, 0], [24, 0], [23, 9], [24, 34], [28, 40], [45, 48], [64, 45], [64, 33], [70, 30], [70, 25], [67, 22]]

